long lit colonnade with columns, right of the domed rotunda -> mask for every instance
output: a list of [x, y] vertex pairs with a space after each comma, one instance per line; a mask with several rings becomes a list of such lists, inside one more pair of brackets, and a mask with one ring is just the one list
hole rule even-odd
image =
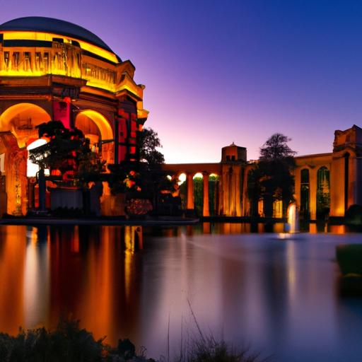
[[[185, 209], [195, 209], [196, 175], [203, 185], [199, 214], [250, 216], [247, 177], [255, 162], [247, 161], [246, 152], [246, 148], [231, 144], [222, 149], [221, 163], [168, 164], [164, 168], [175, 177], [184, 175]], [[362, 129], [354, 125], [334, 132], [331, 153], [296, 157], [294, 197], [301, 216], [311, 220], [325, 218], [327, 214], [343, 217], [351, 205], [362, 205], [361, 156]], [[211, 209], [214, 212], [211, 213]], [[258, 214], [264, 214], [262, 200]], [[282, 216], [281, 202], [274, 202], [274, 216]]]

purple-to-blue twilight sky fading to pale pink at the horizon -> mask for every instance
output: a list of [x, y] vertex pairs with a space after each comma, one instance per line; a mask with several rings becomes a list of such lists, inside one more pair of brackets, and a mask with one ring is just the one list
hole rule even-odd
[[281, 132], [298, 155], [362, 126], [362, 2], [1, 1], [0, 23], [49, 16], [91, 30], [146, 85], [146, 125], [168, 163], [218, 162], [221, 147]]

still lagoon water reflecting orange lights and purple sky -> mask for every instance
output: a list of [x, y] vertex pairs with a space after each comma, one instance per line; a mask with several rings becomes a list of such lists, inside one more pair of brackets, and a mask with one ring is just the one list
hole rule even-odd
[[205, 334], [273, 361], [361, 361], [362, 299], [339, 296], [334, 252], [362, 235], [314, 224], [295, 238], [282, 230], [0, 226], [0, 331], [52, 328], [63, 315], [160, 358], [168, 336], [173, 356], [197, 335], [195, 317]]

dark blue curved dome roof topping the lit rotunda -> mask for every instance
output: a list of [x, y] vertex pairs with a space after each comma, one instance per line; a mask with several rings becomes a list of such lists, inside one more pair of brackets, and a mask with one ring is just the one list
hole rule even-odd
[[4, 24], [1, 24], [0, 31], [5, 30], [38, 31], [42, 33], [65, 35], [89, 42], [93, 45], [97, 45], [100, 48], [108, 50], [109, 52], [112, 52], [112, 49], [110, 49], [110, 47], [108, 47], [108, 45], [105, 44], [105, 42], [103, 42], [100, 37], [79, 25], [69, 23], [69, 21], [45, 18], [42, 16], [27, 16], [25, 18], [13, 19], [11, 21], [7, 21]]

